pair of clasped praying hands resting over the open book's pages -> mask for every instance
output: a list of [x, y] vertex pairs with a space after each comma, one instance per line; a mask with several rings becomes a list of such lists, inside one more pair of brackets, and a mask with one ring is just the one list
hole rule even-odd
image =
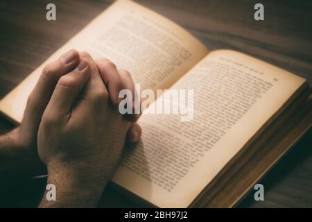
[[135, 93], [128, 71], [71, 50], [44, 67], [10, 142], [35, 167], [44, 163], [57, 200], [41, 207], [94, 207], [121, 157], [137, 142], [138, 115], [121, 115], [121, 89]]

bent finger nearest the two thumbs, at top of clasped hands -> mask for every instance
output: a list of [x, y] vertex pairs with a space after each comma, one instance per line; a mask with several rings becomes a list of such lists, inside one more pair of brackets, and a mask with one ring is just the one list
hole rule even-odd
[[116, 66], [107, 59], [96, 60], [96, 66], [98, 67], [101, 78], [107, 86], [110, 100], [118, 107], [120, 101], [118, 95], [121, 89], [123, 89], [123, 84]]

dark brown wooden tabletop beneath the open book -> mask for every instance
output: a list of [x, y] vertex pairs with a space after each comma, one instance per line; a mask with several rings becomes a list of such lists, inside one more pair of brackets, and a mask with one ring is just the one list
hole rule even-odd
[[[78, 33], [112, 1], [52, 1], [57, 21], [45, 19], [50, 1], [0, 1], [0, 97], [21, 82], [56, 49]], [[265, 21], [253, 19], [256, 1], [139, 0], [187, 28], [209, 49], [235, 49], [303, 76], [312, 85], [312, 2], [261, 1]], [[12, 128], [0, 118], [0, 133]], [[311, 130], [261, 180], [265, 200], [246, 196], [239, 207], [312, 207]], [[3, 207], [33, 207], [44, 179], [11, 187]], [[112, 192], [112, 191], [108, 191]], [[111, 194], [107, 194], [110, 196]], [[115, 204], [115, 203], [114, 203]], [[115, 206], [119, 206], [116, 201]], [[124, 202], [123, 206], [132, 206]]]

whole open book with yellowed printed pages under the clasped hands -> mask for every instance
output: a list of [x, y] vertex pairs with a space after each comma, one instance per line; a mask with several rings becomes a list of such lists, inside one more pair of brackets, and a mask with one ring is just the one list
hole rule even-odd
[[[126, 149], [112, 184], [157, 207], [232, 207], [312, 122], [303, 78], [236, 51], [209, 51], [157, 13], [116, 1], [0, 103], [21, 122], [42, 68], [87, 51], [128, 69], [144, 89], [193, 89], [193, 120], [143, 114], [141, 142]], [[157, 101], [156, 101], [157, 102]]]

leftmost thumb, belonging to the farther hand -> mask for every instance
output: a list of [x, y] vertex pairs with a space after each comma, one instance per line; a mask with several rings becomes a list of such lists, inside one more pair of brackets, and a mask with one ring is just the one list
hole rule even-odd
[[72, 49], [64, 53], [55, 62], [51, 62], [44, 67], [33, 91], [28, 97], [24, 121], [31, 121], [32, 126], [39, 125], [58, 79], [76, 67], [78, 62], [78, 51]]

